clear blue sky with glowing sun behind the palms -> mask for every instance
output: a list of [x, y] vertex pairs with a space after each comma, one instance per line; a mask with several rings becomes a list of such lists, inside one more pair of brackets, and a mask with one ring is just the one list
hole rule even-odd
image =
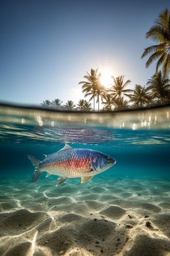
[[[155, 73], [141, 59], [146, 39], [169, 0], [0, 0], [0, 101], [39, 105], [84, 98], [91, 68], [146, 85]], [[88, 98], [86, 98], [88, 100]], [[93, 101], [92, 101], [93, 103]]]

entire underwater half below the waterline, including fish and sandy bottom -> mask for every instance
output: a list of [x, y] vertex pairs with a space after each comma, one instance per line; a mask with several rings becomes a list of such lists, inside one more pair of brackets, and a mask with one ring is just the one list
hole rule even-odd
[[170, 256], [170, 106], [0, 104], [0, 172], [1, 256]]

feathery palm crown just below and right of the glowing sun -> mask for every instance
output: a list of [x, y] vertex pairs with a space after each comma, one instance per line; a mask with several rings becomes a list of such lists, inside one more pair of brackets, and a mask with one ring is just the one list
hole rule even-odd
[[110, 94], [113, 95], [115, 99], [118, 98], [121, 102], [123, 96], [129, 97], [128, 93], [133, 92], [133, 90], [131, 89], [125, 89], [126, 85], [128, 85], [128, 83], [130, 83], [131, 81], [127, 80], [124, 83], [124, 76], [122, 75], [117, 76], [116, 79], [113, 76], [111, 77], [113, 79], [114, 85], [112, 85], [111, 89], [109, 90]]

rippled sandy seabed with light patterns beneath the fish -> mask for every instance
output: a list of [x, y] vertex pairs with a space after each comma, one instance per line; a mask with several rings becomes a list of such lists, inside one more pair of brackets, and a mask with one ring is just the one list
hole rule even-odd
[[1, 180], [0, 256], [170, 256], [170, 180]]

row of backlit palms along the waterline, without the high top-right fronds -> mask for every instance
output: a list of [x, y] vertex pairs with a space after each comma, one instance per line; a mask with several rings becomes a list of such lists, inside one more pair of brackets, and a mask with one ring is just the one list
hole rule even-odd
[[[91, 69], [91, 74], [93, 74], [93, 72], [95, 72], [95, 70]], [[98, 78], [96, 80], [99, 80]], [[135, 85], [135, 89], [133, 90], [126, 88], [130, 80], [124, 83], [124, 76], [118, 76], [116, 79], [112, 76], [112, 78], [114, 84], [111, 88], [105, 88], [103, 85], [100, 85], [98, 88], [99, 82], [95, 83], [95, 86], [93, 84], [93, 87], [90, 85], [90, 82], [80, 82], [84, 83], [82, 88], [83, 92], [86, 92], [85, 97], [91, 96], [89, 101], [80, 99], [75, 105], [72, 100], [68, 100], [66, 104], [63, 104], [60, 99], [54, 99], [52, 102], [45, 100], [41, 104], [42, 106], [49, 106], [58, 110], [94, 111], [95, 103], [98, 103], [99, 110], [100, 97], [103, 105], [100, 111], [112, 111], [170, 103], [170, 79], [164, 76], [161, 71], [155, 73], [152, 78], [148, 80], [147, 87]], [[90, 102], [91, 100], [93, 100], [93, 108]]]

